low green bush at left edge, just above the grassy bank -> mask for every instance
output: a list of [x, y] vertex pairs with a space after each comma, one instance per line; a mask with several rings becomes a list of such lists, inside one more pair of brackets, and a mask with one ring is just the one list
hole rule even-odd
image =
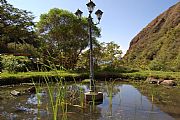
[[2, 68], [10, 73], [26, 72], [27, 65], [30, 65], [31, 61], [25, 56], [2, 56]]

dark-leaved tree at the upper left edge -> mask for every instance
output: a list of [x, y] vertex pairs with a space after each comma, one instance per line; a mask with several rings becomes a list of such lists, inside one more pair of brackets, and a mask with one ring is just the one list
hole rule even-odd
[[31, 12], [0, 0], [0, 53], [9, 52], [8, 43], [37, 45], [33, 19]]

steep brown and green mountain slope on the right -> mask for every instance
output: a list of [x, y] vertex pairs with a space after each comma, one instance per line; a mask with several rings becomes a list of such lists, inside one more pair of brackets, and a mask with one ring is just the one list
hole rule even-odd
[[123, 60], [141, 69], [180, 71], [180, 2], [132, 39]]

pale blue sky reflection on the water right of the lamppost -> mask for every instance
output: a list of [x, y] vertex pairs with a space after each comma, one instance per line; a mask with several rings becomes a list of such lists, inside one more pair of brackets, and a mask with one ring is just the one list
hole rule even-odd
[[[171, 116], [160, 111], [155, 105], [140, 94], [140, 92], [131, 85], [119, 86], [120, 92], [116, 94], [111, 101], [105, 97], [104, 104], [100, 105], [103, 119], [135, 119], [135, 120], [171, 120]], [[111, 111], [109, 114], [109, 111]]]

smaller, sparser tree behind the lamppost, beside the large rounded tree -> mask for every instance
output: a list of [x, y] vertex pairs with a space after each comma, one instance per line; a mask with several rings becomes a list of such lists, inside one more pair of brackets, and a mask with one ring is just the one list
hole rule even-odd
[[[118, 68], [121, 64], [122, 50], [114, 42], [96, 43], [93, 48], [94, 67], [98, 68]], [[84, 51], [78, 62], [79, 67], [89, 68], [89, 50]]]

